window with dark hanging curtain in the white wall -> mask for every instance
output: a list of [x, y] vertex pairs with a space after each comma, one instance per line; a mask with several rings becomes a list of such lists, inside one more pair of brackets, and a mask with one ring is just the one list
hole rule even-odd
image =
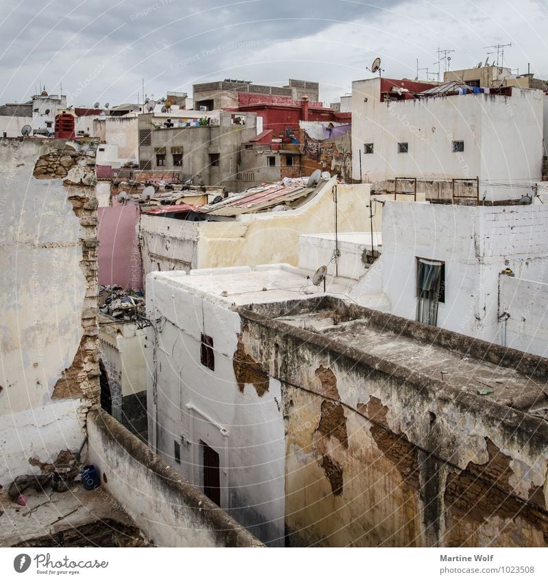
[[445, 301], [445, 263], [416, 259], [416, 320], [427, 325], [438, 322], [438, 303]]

